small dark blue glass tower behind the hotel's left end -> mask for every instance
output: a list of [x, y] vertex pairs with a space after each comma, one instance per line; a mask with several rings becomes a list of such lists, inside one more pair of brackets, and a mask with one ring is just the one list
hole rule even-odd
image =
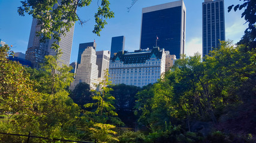
[[114, 57], [114, 53], [125, 50], [125, 36], [117, 36], [112, 38], [110, 58]]

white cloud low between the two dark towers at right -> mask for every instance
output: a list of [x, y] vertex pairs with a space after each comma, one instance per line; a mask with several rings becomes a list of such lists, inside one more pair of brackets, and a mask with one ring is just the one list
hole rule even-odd
[[194, 55], [196, 52], [202, 54], [202, 39], [195, 37], [186, 42], [185, 54], [187, 56]]

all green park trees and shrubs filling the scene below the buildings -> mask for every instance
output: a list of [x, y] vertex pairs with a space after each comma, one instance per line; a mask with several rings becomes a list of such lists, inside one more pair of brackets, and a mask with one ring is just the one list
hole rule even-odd
[[[36, 14], [38, 11], [31, 7], [44, 6], [29, 2], [32, 1], [22, 3], [19, 13]], [[84, 7], [90, 1], [77, 2], [77, 7]], [[108, 7], [108, 2], [103, 1], [103, 7]], [[50, 13], [54, 3], [48, 3], [43, 8]], [[222, 41], [203, 60], [198, 53], [182, 55], [158, 82], [143, 88], [111, 85], [106, 72], [96, 90], [80, 83], [70, 91], [68, 86], [74, 74], [68, 72], [71, 67], [58, 66], [61, 56], [58, 47], [55, 47], [58, 54], [47, 55], [41, 70], [35, 70], [8, 60], [13, 52], [8, 45], [2, 46], [0, 132], [20, 135], [30, 132], [33, 136], [50, 138], [32, 138], [29, 142], [61, 142], [51, 139], [121, 143], [255, 142], [256, 18], [251, 5], [255, 2], [245, 1], [242, 6], [234, 7], [234, 10], [245, 8], [242, 16], [249, 23], [239, 43]], [[62, 8], [65, 12], [69, 7]], [[250, 8], [254, 15], [248, 15]], [[76, 13], [71, 13], [74, 17], [71, 23], [78, 20], [72, 14]], [[48, 34], [52, 35], [47, 33], [44, 38]], [[55, 36], [58, 40], [58, 35]], [[27, 141], [24, 136], [1, 133], [0, 142]]]

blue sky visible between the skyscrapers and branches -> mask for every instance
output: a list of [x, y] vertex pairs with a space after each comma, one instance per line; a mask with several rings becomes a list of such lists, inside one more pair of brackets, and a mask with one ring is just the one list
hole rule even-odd
[[[144, 7], [164, 4], [176, 0], [138, 0], [129, 13], [127, 7], [131, 0], [110, 0], [110, 8], [115, 12], [115, 18], [107, 20], [107, 26], [101, 32], [101, 36], [92, 33], [94, 30], [94, 13], [97, 12], [97, 1], [93, 0], [89, 7], [77, 11], [83, 20], [88, 20], [83, 26], [78, 22], [74, 29], [73, 48], [70, 63], [77, 61], [79, 43], [97, 43], [97, 51], [109, 50], [111, 39], [114, 36], [125, 36], [125, 50], [134, 51], [140, 44], [141, 10]], [[201, 53], [201, 7], [203, 0], [184, 0], [186, 6], [186, 46], [185, 54], [193, 55]], [[225, 35], [236, 43], [240, 40], [247, 27], [245, 20], [241, 18], [242, 11], [227, 13], [227, 7], [232, 4], [241, 4], [239, 0], [225, 0]], [[19, 16], [17, 7], [20, 0], [0, 0], [0, 39], [8, 45], [13, 45], [14, 52], [26, 52], [28, 48], [29, 33], [32, 17], [26, 14]]]

